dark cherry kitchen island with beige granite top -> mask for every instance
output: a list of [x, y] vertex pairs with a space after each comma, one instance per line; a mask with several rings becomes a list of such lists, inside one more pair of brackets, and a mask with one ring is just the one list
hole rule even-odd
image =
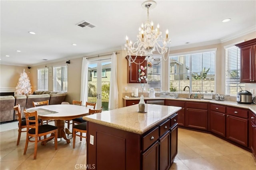
[[88, 169], [168, 169], [177, 154], [177, 111], [181, 107], [146, 104], [83, 117], [87, 121]]

